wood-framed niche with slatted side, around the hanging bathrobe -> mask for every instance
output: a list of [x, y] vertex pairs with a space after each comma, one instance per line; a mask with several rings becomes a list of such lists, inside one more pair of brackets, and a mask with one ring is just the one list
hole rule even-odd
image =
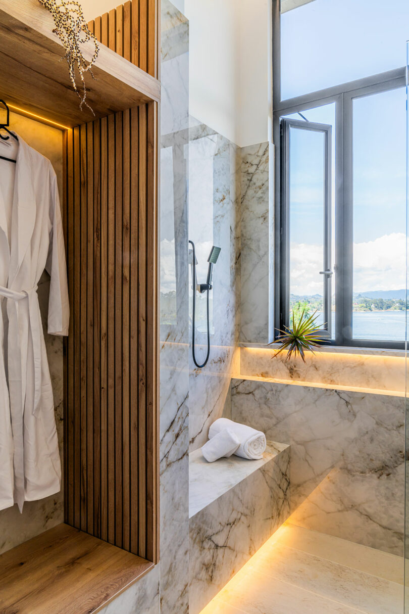
[[51, 15], [0, 4], [1, 98], [64, 131], [71, 307], [64, 523], [0, 556], [1, 612], [97, 612], [158, 562], [158, 21], [132, 0], [90, 23], [93, 115]]

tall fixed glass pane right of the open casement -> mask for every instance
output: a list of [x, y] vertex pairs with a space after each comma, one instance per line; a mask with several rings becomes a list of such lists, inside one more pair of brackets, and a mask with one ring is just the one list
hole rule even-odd
[[353, 336], [405, 339], [405, 88], [353, 101]]

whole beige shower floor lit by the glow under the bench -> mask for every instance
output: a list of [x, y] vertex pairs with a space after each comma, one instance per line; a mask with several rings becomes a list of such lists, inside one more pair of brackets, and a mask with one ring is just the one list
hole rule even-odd
[[402, 614], [395, 559], [286, 523], [201, 614]]

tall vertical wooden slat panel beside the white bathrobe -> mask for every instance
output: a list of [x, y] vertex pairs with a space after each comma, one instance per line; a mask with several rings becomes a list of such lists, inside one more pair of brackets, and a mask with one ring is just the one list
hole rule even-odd
[[74, 128], [64, 160], [65, 521], [150, 561], [158, 549], [156, 114], [151, 103]]

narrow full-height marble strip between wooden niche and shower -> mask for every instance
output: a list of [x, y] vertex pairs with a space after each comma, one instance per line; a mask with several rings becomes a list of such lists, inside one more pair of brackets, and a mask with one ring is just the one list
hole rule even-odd
[[164, 0], [161, 27], [160, 612], [187, 614], [189, 25]]

